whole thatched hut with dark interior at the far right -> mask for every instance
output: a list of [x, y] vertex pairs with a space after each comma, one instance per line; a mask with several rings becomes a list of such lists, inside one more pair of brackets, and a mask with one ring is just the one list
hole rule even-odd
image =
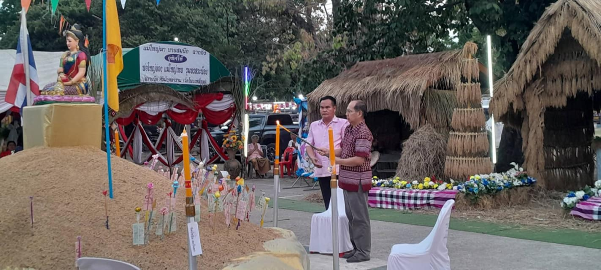
[[542, 187], [593, 184], [599, 44], [601, 1], [559, 0], [543, 13], [510, 71], [495, 84], [491, 110], [522, 133], [523, 166]]

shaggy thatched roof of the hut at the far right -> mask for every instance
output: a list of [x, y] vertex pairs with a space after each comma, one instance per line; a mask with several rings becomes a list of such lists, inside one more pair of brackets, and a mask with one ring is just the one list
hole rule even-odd
[[[560, 41], [563, 41], [564, 44], [561, 44]], [[589, 68], [587, 66], [583, 67], [574, 62], [565, 61], [567, 59], [559, 59], [564, 60], [564, 63], [561, 63], [563, 66], [557, 62], [553, 63], [555, 74], [541, 75], [540, 73], [549, 57], [554, 53], [558, 53], [556, 48], [567, 48], [573, 45], [582, 46], [588, 57], [596, 62], [591, 64], [599, 67], [601, 64], [601, 47], [599, 44], [601, 44], [601, 1], [558, 0], [549, 6], [538, 20], [522, 45], [520, 53], [507, 75], [495, 83], [495, 94], [490, 103], [490, 109], [504, 122], [508, 118], [519, 118], [520, 116], [515, 115], [515, 113], [525, 107], [522, 95], [526, 87], [534, 85], [535, 80], [542, 79], [540, 76], [546, 76], [549, 81], [555, 81], [541, 85], [542, 88], [549, 89], [551, 86], [559, 86], [555, 87], [554, 91], [563, 91], [560, 94], [563, 96], [573, 97], [577, 91], [591, 91], [591, 86], [593, 86], [591, 83], [599, 84], [599, 82], [591, 82], [588, 85], [587, 82], [583, 83], [582, 81], [579, 83], [572, 82], [572, 79], [581, 79], [575, 73], [583, 72]], [[577, 57], [577, 55], [572, 55], [572, 58]], [[576, 72], [577, 70], [578, 72]], [[566, 74], [571, 77], [566, 78]], [[559, 79], [560, 76], [563, 76], [567, 83], [554, 85], [554, 83], [562, 80]], [[596, 81], [595, 79], [600, 80], [600, 78], [593, 77], [593, 81]], [[540, 82], [536, 84], [540, 84]], [[552, 105], [565, 105], [565, 101], [561, 99], [557, 102], [558, 104]], [[510, 113], [510, 115], [507, 115], [507, 113]]]

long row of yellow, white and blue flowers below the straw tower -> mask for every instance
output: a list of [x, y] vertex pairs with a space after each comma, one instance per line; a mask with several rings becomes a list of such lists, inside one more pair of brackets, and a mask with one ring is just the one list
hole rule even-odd
[[503, 173], [491, 173], [490, 175], [472, 175], [468, 181], [460, 182], [450, 179], [449, 182], [426, 177], [423, 181], [401, 181], [400, 178], [378, 179], [376, 176], [371, 180], [372, 187], [387, 187], [407, 190], [458, 190], [467, 196], [477, 199], [481, 194], [494, 195], [505, 189], [534, 185], [536, 179], [528, 176], [528, 173], [515, 163], [513, 169]]

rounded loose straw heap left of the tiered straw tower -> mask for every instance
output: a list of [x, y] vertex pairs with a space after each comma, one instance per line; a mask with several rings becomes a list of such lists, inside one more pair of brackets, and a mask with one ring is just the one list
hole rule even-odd
[[397, 174], [407, 181], [435, 175], [444, 178], [447, 142], [432, 125], [424, 125], [403, 143], [403, 154], [398, 160]]

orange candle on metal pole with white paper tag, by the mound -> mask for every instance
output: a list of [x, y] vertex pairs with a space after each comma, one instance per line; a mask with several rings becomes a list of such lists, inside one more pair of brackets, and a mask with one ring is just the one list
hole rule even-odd
[[[198, 223], [194, 221], [196, 215], [194, 198], [192, 197], [192, 181], [190, 175], [190, 151], [188, 144], [188, 133], [186, 128], [182, 131], [182, 152], [184, 166], [184, 187], [186, 189], [186, 218], [188, 218], [188, 269], [198, 269], [196, 255], [192, 252], [194, 242], [200, 243], [198, 235]], [[202, 251], [200, 251], [202, 254]], [[198, 253], [198, 252], [197, 252]]]

